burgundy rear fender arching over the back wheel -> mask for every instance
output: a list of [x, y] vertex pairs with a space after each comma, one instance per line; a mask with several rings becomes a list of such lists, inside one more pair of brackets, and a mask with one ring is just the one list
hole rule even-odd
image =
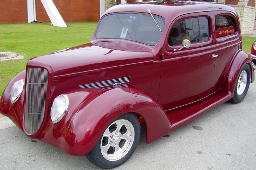
[[236, 88], [237, 84], [237, 78], [241, 72], [242, 67], [245, 64], [249, 64], [251, 68], [251, 82], [255, 80], [255, 73], [252, 66], [252, 61], [248, 54], [244, 51], [239, 51], [237, 55], [234, 57], [234, 60], [231, 64], [231, 67], [229, 69], [229, 73], [227, 75], [227, 78], [225, 79], [223, 91], [231, 93], [231, 97], [234, 94], [234, 90]]

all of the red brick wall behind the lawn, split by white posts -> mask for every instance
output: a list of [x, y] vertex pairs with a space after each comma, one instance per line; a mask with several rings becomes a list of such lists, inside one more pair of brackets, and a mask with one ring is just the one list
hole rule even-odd
[[[65, 22], [99, 21], [100, 0], [53, 0]], [[93, 5], [92, 5], [93, 4]], [[38, 21], [51, 22], [41, 0], [35, 0]], [[0, 23], [27, 23], [27, 0], [0, 0]]]

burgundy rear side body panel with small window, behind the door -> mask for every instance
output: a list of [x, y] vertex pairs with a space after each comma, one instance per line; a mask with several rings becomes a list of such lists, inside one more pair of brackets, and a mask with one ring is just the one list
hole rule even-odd
[[212, 92], [221, 89], [230, 63], [238, 49], [241, 49], [239, 23], [230, 12], [214, 12], [215, 69]]

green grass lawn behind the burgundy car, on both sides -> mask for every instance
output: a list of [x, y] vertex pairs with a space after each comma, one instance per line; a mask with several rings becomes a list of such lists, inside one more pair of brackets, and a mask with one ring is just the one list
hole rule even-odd
[[[26, 69], [27, 60], [90, 42], [97, 22], [71, 22], [67, 28], [41, 24], [0, 24], [0, 52], [25, 53], [24, 59], [0, 61], [0, 96], [9, 81]], [[251, 51], [255, 37], [243, 36], [243, 50]]]

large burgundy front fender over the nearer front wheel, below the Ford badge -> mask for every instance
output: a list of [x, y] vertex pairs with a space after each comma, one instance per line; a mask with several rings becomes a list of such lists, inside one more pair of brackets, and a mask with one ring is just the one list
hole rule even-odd
[[[46, 132], [49, 127], [45, 130], [48, 133], [46, 136], [53, 135], [55, 139], [49, 141], [49, 136], [38, 139], [41, 138], [40, 140], [47, 141], [69, 154], [84, 155], [94, 148], [111, 122], [128, 112], [138, 113], [145, 120], [147, 143], [169, 133], [171, 124], [166, 112], [146, 93], [133, 88], [114, 88], [97, 94], [91, 90], [93, 89], [66, 93], [70, 101], [68, 112], [60, 122], [51, 123], [53, 132]], [[54, 141], [57, 138], [64, 138], [65, 141]]]

